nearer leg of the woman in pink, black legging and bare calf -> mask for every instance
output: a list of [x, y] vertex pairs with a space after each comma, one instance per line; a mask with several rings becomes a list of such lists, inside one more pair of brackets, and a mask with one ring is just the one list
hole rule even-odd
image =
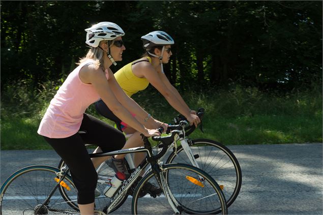
[[67, 138], [45, 140], [68, 165], [77, 189], [77, 203], [81, 214], [94, 213], [94, 190], [98, 175], [79, 134]]

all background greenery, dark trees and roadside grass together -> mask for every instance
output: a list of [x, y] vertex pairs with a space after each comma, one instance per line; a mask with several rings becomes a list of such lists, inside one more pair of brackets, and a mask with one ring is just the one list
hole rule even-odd
[[[142, 35], [160, 29], [174, 38], [164, 70], [190, 107], [207, 109], [203, 137], [225, 144], [322, 141], [321, 1], [0, 4], [2, 148], [43, 147], [41, 117], [86, 54], [84, 29], [100, 21], [126, 32], [124, 60], [113, 71], [141, 56]], [[177, 114], [152, 87], [134, 100], [163, 121]], [[93, 106], [87, 112], [98, 116]]]

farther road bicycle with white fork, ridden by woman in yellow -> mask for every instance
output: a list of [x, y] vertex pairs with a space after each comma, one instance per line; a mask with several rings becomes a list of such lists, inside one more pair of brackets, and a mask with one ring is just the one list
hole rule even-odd
[[[199, 108], [197, 115], [201, 119], [199, 128], [203, 132], [202, 121], [204, 109]], [[162, 159], [166, 164], [184, 163], [195, 166], [211, 175], [220, 185], [222, 192], [227, 200], [227, 206], [230, 206], [237, 198], [242, 183], [242, 173], [239, 162], [232, 151], [223, 144], [210, 139], [190, 139], [189, 135], [196, 129], [194, 125], [189, 126], [187, 119], [183, 115], [179, 115], [173, 119], [173, 124], [169, 126], [169, 130], [179, 130], [180, 135], [177, 142], [169, 145], [165, 158]], [[86, 132], [86, 131], [83, 131]], [[167, 132], [166, 132], [167, 133]], [[156, 144], [154, 150], [160, 150], [159, 143]], [[135, 165], [130, 154], [126, 155], [128, 163], [128, 171], [133, 171]], [[65, 165], [61, 160], [58, 168], [61, 169]], [[150, 169], [146, 170], [148, 172]], [[99, 180], [100, 177], [106, 175], [113, 176], [114, 171], [106, 163], [102, 163], [97, 169]], [[98, 183], [97, 189], [104, 190], [105, 186]], [[134, 188], [132, 188], [134, 189]], [[104, 199], [98, 198], [97, 205], [104, 205]]]

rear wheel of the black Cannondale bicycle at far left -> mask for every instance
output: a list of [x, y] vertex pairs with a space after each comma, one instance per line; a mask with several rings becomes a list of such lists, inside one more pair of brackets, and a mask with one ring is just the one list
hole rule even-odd
[[[50, 166], [28, 166], [13, 173], [1, 187], [0, 214], [31, 215], [45, 202], [50, 192], [57, 185], [55, 178], [59, 169]], [[64, 189], [73, 199], [77, 199], [77, 191], [69, 175], [64, 180]], [[62, 183], [61, 183], [62, 185]], [[61, 187], [61, 186], [60, 186]], [[46, 207], [37, 214], [61, 214], [60, 211], [73, 209], [61, 196], [59, 189], [50, 197]], [[76, 212], [76, 210], [73, 210]]]

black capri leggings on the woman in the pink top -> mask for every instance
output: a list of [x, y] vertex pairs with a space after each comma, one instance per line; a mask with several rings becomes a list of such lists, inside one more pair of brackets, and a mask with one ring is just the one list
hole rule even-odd
[[126, 138], [122, 132], [89, 114], [83, 115], [80, 130], [86, 133], [67, 138], [44, 138], [68, 165], [78, 191], [77, 203], [90, 204], [94, 202], [98, 175], [84, 143], [98, 145], [103, 152], [108, 152], [121, 149]]

